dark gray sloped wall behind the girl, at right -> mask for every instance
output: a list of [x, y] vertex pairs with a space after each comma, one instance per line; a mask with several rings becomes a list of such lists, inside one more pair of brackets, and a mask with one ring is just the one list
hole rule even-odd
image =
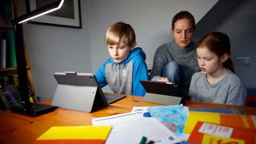
[[230, 37], [234, 70], [247, 89], [256, 88], [256, 1], [220, 0], [198, 22], [196, 38], [210, 31], [222, 31]]

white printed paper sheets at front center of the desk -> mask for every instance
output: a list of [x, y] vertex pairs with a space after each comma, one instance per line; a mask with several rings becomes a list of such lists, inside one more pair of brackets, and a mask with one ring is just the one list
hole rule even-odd
[[147, 142], [152, 140], [154, 143], [177, 143], [182, 141], [156, 118], [143, 117], [142, 111], [93, 118], [92, 123], [94, 126], [113, 126], [106, 140], [106, 143], [110, 144], [138, 144], [142, 136], [147, 138]]

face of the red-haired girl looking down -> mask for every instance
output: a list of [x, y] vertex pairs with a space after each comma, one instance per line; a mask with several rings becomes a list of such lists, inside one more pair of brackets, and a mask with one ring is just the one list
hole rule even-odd
[[203, 74], [216, 74], [218, 71], [224, 68], [223, 62], [226, 61], [227, 54], [218, 57], [217, 54], [211, 52], [206, 46], [199, 46], [197, 48], [198, 53], [198, 65]]

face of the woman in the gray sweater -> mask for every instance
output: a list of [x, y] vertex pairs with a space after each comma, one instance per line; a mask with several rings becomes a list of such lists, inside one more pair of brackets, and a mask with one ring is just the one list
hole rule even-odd
[[193, 24], [190, 19], [182, 18], [174, 23], [172, 30], [175, 42], [180, 48], [186, 48], [192, 42], [194, 36]]

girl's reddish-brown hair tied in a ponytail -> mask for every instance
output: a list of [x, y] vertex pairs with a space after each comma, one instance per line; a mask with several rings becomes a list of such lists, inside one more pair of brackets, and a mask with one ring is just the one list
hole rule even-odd
[[[214, 54], [217, 54], [218, 57], [221, 57], [223, 54], [228, 54], [230, 56], [230, 38], [221, 32], [211, 32], [206, 34], [204, 38], [198, 42], [197, 48], [200, 46], [206, 46]], [[230, 57], [223, 63], [223, 66], [230, 69], [234, 72], [233, 62]]]

